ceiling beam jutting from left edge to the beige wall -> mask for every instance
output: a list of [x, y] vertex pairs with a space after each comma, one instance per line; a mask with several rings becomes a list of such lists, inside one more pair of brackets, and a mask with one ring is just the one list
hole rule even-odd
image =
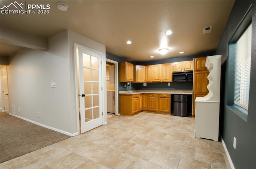
[[1, 42], [31, 49], [47, 51], [48, 38], [1, 25]]

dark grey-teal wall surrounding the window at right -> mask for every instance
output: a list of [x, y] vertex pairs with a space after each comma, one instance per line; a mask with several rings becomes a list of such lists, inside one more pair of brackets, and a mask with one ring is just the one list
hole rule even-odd
[[[226, 106], [228, 96], [225, 90], [229, 84], [225, 81], [228, 61], [228, 42], [249, 8], [252, 8], [252, 59], [250, 74], [250, 96], [247, 121]], [[220, 134], [236, 169], [256, 168], [256, 1], [238, 1], [234, 3], [225, 29], [216, 49], [216, 55], [222, 55], [221, 98], [220, 98]], [[236, 149], [233, 138], [236, 137]]]

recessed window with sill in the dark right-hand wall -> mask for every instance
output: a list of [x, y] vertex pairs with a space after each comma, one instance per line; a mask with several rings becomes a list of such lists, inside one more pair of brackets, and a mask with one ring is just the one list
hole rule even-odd
[[251, 42], [252, 9], [250, 8], [228, 42], [224, 100], [227, 110], [234, 112], [246, 122], [250, 88]]

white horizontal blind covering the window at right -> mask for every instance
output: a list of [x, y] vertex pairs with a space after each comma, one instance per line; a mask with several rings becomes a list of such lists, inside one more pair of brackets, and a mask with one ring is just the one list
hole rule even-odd
[[252, 49], [252, 24], [238, 39], [236, 51], [235, 91], [234, 104], [248, 110], [251, 49]]

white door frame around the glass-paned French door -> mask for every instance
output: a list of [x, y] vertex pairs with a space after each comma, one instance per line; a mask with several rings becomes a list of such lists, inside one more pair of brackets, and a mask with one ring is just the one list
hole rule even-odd
[[104, 53], [100, 51], [96, 51], [94, 49], [91, 49], [89, 47], [85, 47], [83, 45], [79, 45], [78, 43], [74, 43], [74, 77], [75, 77], [75, 90], [76, 90], [76, 115], [77, 115], [77, 133], [78, 135], [80, 134], [80, 114], [79, 114], [79, 62], [78, 62], [78, 52], [76, 52], [76, 47], [82, 47], [84, 49], [87, 49], [89, 51], [92, 51], [94, 53], [98, 53], [101, 55], [101, 70], [102, 70], [102, 76], [101, 76], [101, 81], [102, 81], [102, 111], [103, 111], [103, 116], [102, 116], [102, 124], [105, 125], [107, 124], [107, 83], [106, 83], [106, 57], [104, 57]]

